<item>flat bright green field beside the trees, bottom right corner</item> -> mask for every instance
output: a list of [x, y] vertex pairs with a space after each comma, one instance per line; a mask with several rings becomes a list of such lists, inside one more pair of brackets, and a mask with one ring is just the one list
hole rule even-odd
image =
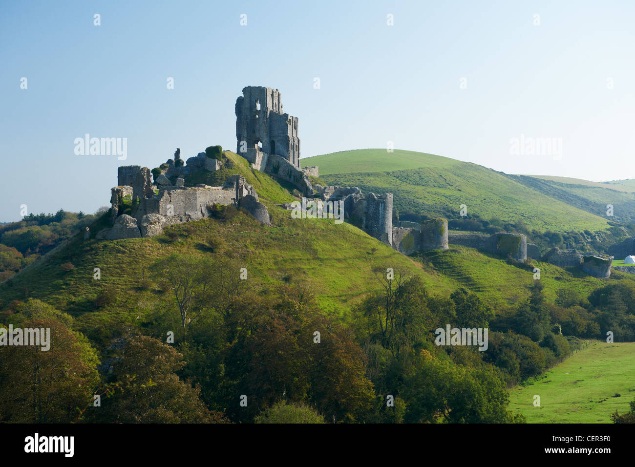
[[512, 389], [509, 410], [528, 423], [611, 423], [611, 414], [628, 412], [635, 398], [634, 356], [635, 342], [594, 342], [533, 384]]

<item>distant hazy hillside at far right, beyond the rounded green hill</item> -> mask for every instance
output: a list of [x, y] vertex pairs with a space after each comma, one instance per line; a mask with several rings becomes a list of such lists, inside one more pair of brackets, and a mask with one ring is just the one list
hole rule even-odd
[[[563, 177], [552, 177], [551, 180], [529, 175], [507, 175], [507, 177], [605, 219], [625, 223], [635, 221], [635, 193], [618, 189], [617, 186], [596, 182], [584, 183], [586, 180]], [[613, 217], [606, 216], [607, 205], [613, 206]]]

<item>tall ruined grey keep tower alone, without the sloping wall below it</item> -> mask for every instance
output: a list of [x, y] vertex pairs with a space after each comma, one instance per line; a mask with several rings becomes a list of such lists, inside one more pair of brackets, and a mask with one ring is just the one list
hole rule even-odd
[[251, 163], [259, 166], [269, 154], [277, 154], [300, 169], [298, 119], [283, 113], [277, 89], [243, 88], [236, 99], [236, 139], [237, 154]]

